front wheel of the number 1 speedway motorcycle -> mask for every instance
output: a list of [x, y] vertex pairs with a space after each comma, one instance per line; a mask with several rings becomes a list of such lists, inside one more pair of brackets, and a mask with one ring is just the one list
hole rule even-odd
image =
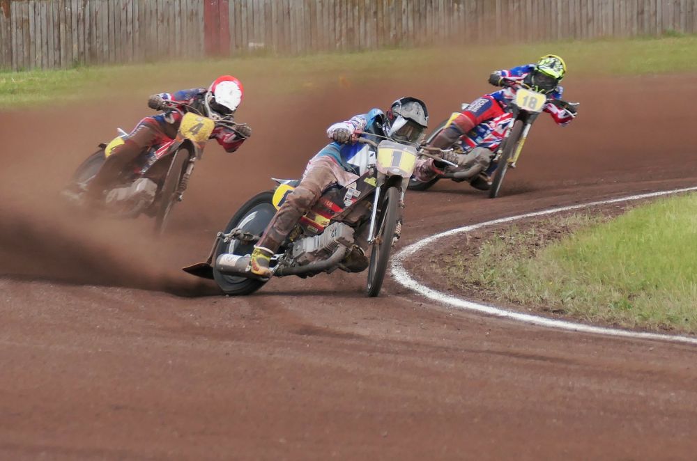
[[395, 236], [397, 220], [399, 219], [399, 190], [396, 187], [389, 187], [385, 191], [383, 202], [378, 212], [376, 226], [378, 231], [373, 242], [373, 249], [370, 252], [370, 265], [368, 266], [368, 288], [367, 295], [375, 297], [380, 294], [383, 286], [385, 272], [390, 262], [390, 251], [392, 250], [392, 237]]

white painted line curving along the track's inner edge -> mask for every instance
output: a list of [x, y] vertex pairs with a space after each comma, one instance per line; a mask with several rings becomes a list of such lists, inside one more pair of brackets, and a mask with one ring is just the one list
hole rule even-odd
[[487, 313], [490, 315], [496, 315], [498, 317], [510, 318], [512, 320], [519, 320], [521, 322], [526, 322], [526, 323], [530, 323], [533, 325], [541, 325], [543, 327], [551, 327], [551, 328], [556, 328], [556, 329], [582, 331], [584, 333], [604, 334], [604, 335], [608, 335], [608, 336], [622, 336], [625, 338], [657, 339], [657, 340], [661, 340], [661, 341], [675, 341], [678, 343], [697, 344], [697, 338], [689, 337], [689, 336], [677, 336], [677, 335], [659, 334], [659, 333], [643, 333], [641, 331], [629, 331], [629, 330], [614, 329], [614, 328], [593, 327], [591, 325], [584, 325], [582, 323], [566, 322], [564, 320], [555, 320], [552, 318], [541, 317], [539, 315], [530, 315], [530, 314], [524, 314], [524, 313], [519, 313], [519, 312], [514, 312], [514, 311], [507, 311], [503, 308], [499, 308], [496, 306], [490, 306], [488, 304], [479, 304], [476, 302], [467, 301], [466, 299], [452, 297], [450, 295], [447, 295], [446, 293], [432, 290], [431, 288], [428, 288], [427, 286], [422, 285], [422, 283], [419, 283], [418, 281], [416, 281], [406, 271], [406, 269], [404, 269], [404, 265], [403, 265], [403, 262], [406, 258], [408, 258], [409, 256], [413, 256], [414, 253], [416, 253], [417, 251], [420, 251], [421, 249], [423, 249], [427, 245], [435, 242], [439, 238], [447, 237], [448, 235], [466, 233], [469, 231], [474, 231], [475, 229], [480, 229], [480, 228], [487, 227], [487, 226], [493, 226], [495, 224], [503, 224], [503, 223], [507, 223], [507, 222], [511, 222], [511, 221], [516, 221], [518, 219], [529, 218], [529, 217], [544, 216], [545, 214], [553, 214], [553, 213], [569, 211], [569, 210], [578, 210], [579, 208], [587, 208], [587, 207], [591, 207], [591, 206], [595, 206], [595, 205], [605, 205], [607, 203], [618, 203], [618, 202], [625, 202], [625, 201], [640, 200], [641, 198], [650, 198], [650, 197], [657, 197], [657, 196], [663, 196], [663, 195], [669, 195], [669, 194], [678, 194], [680, 192], [691, 192], [691, 191], [697, 191], [697, 187], [686, 187], [684, 189], [674, 189], [671, 191], [664, 191], [664, 192], [652, 192], [651, 194], [633, 195], [633, 196], [627, 196], [627, 197], [622, 197], [622, 198], [613, 198], [612, 200], [583, 203], [581, 205], [570, 205], [570, 206], [565, 206], [565, 207], [560, 207], [560, 208], [551, 208], [549, 210], [538, 211], [538, 212], [533, 212], [533, 213], [526, 213], [526, 214], [519, 214], [517, 216], [501, 218], [501, 219], [494, 219], [493, 221], [487, 221], [487, 222], [483, 222], [480, 224], [473, 224], [471, 226], [459, 227], [457, 229], [452, 229], [450, 231], [445, 231], [445, 232], [441, 232], [441, 233], [436, 234], [436, 235], [431, 235], [431, 237], [427, 237], [423, 240], [420, 240], [419, 242], [413, 243], [413, 244], [409, 245], [408, 247], [404, 248], [403, 250], [399, 251], [399, 253], [397, 253], [395, 255], [395, 257], [392, 258], [392, 274], [395, 276], [395, 279], [399, 283], [401, 283], [401, 285], [405, 286], [406, 288], [409, 288], [410, 290], [417, 292], [419, 295], [422, 295], [422, 296], [427, 297], [429, 299], [433, 299], [434, 301], [437, 301], [437, 302], [440, 302], [443, 304], [449, 304], [450, 306], [454, 306], [454, 307], [468, 310], [468, 311], [477, 311], [477, 312]]

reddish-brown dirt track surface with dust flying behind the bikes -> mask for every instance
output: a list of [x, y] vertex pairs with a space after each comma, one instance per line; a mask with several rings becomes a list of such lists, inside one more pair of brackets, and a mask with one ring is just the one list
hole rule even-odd
[[[502, 198], [454, 183], [410, 193], [403, 244], [694, 185], [683, 114], [697, 77], [688, 80], [569, 81], [581, 116], [563, 130], [540, 120]], [[135, 124], [144, 102], [73, 119], [0, 114], [0, 458], [693, 459], [694, 347], [449, 311], [389, 279], [365, 299], [365, 274], [278, 279], [226, 298], [178, 272], [268, 176], [299, 175], [332, 121], [412, 93], [435, 124], [459, 95], [486, 90], [422, 82], [278, 101], [248, 85], [239, 117], [254, 136], [233, 156], [210, 146], [158, 244], [146, 221], [66, 217], [56, 199], [77, 162], [113, 127]], [[45, 130], [31, 128], [47, 116]]]

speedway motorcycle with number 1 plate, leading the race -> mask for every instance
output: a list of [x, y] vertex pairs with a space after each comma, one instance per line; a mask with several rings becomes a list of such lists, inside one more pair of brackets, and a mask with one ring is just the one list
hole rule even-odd
[[[400, 208], [404, 208], [404, 192], [415, 168], [417, 146], [390, 139], [376, 143], [360, 138], [358, 142], [365, 146], [351, 164], [358, 166], [360, 176], [344, 187], [328, 187], [300, 219], [271, 257], [275, 276], [305, 278], [336, 269], [362, 272], [367, 263], [367, 296], [379, 294], [393, 241], [399, 237]], [[250, 255], [276, 210], [300, 183], [274, 180], [273, 191], [250, 198], [217, 234], [208, 260], [185, 267], [185, 272], [214, 279], [227, 295], [249, 295], [268, 281], [249, 272]], [[361, 243], [370, 247], [367, 261]]]

